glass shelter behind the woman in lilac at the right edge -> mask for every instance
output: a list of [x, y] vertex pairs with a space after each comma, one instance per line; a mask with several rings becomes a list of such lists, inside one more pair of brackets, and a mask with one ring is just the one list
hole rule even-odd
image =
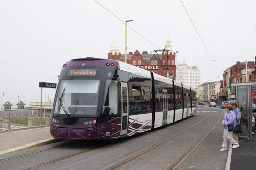
[[[240, 119], [242, 133], [239, 133], [240, 138], [246, 138], [252, 141], [252, 92], [256, 91], [256, 82], [253, 83], [232, 83], [231, 86], [236, 90], [236, 103], [238, 108], [244, 112], [246, 119]], [[253, 122], [254, 123], [254, 122]]]

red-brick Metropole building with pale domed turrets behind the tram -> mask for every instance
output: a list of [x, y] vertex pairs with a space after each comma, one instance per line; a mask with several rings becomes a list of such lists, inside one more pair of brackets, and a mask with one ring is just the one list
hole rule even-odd
[[[171, 50], [172, 46], [170, 45], [170, 39], [166, 41], [165, 49]], [[136, 50], [134, 53], [129, 52], [127, 54], [127, 63], [137, 66], [142, 69], [146, 69], [151, 72], [155, 72], [161, 76], [167, 77], [169, 73], [173, 74], [175, 80], [176, 75], [176, 66], [175, 66], [175, 56], [176, 53], [172, 51], [164, 51], [161, 54], [158, 54], [159, 59], [156, 54], [149, 54], [147, 51], [140, 53]], [[124, 62], [125, 54], [119, 53], [119, 46], [114, 41], [110, 45], [110, 53], [108, 53], [108, 59], [119, 60]], [[161, 64], [162, 62], [162, 64]], [[163, 65], [163, 66], [162, 66]], [[165, 75], [163, 75], [165, 69]]]

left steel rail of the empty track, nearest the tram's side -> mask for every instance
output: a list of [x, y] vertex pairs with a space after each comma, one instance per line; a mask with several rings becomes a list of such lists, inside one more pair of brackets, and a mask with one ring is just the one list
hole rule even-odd
[[206, 116], [205, 118], [203, 118], [202, 120], [200, 120], [200, 122], [196, 123], [195, 125], [190, 126], [189, 128], [187, 128], [187, 129], [185, 129], [185, 130], [183, 130], [183, 131], [181, 131], [181, 132], [179, 132], [179, 133], [177, 133], [177, 134], [175, 134], [175, 135], [173, 135], [173, 136], [170, 136], [170, 137], [167, 138], [167, 139], [164, 139], [163, 141], [161, 141], [161, 142], [159, 142], [159, 143], [153, 145], [152, 147], [147, 148], [147, 149], [145, 149], [144, 151], [142, 151], [142, 152], [140, 152], [140, 153], [138, 153], [138, 154], [135, 154], [134, 156], [131, 156], [130, 158], [127, 158], [127, 159], [125, 159], [125, 160], [123, 160], [123, 161], [121, 161], [121, 162], [119, 162], [119, 163], [117, 163], [117, 164], [115, 164], [115, 165], [113, 165], [113, 166], [107, 168], [107, 170], [116, 169], [116, 168], [118, 168], [118, 167], [123, 166], [124, 164], [126, 164], [126, 163], [128, 163], [128, 162], [133, 161], [134, 159], [140, 157], [141, 155], [144, 155], [144, 154], [147, 153], [148, 151], [151, 151], [152, 149], [155, 149], [155, 148], [159, 147], [159, 145], [161, 145], [161, 144], [167, 142], [168, 140], [170, 140], [170, 139], [172, 139], [172, 138], [174, 138], [174, 137], [176, 137], [176, 136], [178, 136], [178, 135], [184, 133], [185, 131], [187, 131], [187, 130], [193, 128], [194, 126], [198, 125], [198, 124], [201, 123], [203, 120], [205, 120], [207, 117], [209, 117], [211, 114], [212, 114], [212, 113], [210, 113], [208, 116]]

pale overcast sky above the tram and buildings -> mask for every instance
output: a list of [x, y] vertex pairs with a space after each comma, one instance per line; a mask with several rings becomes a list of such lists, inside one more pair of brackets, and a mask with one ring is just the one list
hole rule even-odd
[[[154, 44], [128, 29], [128, 52], [164, 48], [169, 37], [177, 61], [201, 70], [201, 83], [222, 80], [224, 69], [256, 56], [255, 0], [182, 0], [215, 67], [180, 0], [98, 2], [122, 21], [134, 20], [129, 26]], [[18, 94], [25, 107], [40, 101], [39, 82], [56, 83], [71, 59], [107, 58], [114, 40], [124, 54], [125, 25], [96, 1], [1, 0], [1, 106], [18, 103]], [[44, 99], [54, 93], [44, 89]]]

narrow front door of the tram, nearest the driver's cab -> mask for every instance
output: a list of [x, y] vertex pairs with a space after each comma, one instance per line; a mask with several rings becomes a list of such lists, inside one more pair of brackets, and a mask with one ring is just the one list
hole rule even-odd
[[127, 134], [128, 125], [128, 85], [126, 82], [121, 82], [121, 132], [120, 135]]

